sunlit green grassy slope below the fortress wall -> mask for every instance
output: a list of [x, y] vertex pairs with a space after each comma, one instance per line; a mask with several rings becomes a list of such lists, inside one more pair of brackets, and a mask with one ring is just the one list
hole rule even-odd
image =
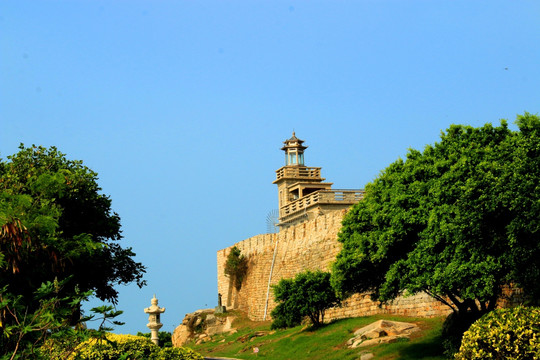
[[[381, 344], [366, 348], [349, 349], [346, 342], [353, 332], [379, 319], [414, 322], [421, 332], [411, 340], [393, 344]], [[215, 335], [200, 345], [187, 344], [205, 356], [223, 356], [238, 359], [358, 359], [363, 352], [373, 353], [377, 359], [445, 359], [442, 355], [440, 332], [443, 318], [418, 319], [399, 316], [368, 316], [338, 320], [313, 330], [306, 326], [270, 331], [270, 322], [250, 322], [240, 318], [234, 323], [238, 332], [231, 335]], [[256, 333], [263, 336], [253, 336]], [[251, 337], [251, 339], [249, 339]], [[245, 339], [248, 338], [248, 339]], [[242, 340], [244, 340], [242, 342]], [[253, 353], [258, 347], [259, 353]]]

